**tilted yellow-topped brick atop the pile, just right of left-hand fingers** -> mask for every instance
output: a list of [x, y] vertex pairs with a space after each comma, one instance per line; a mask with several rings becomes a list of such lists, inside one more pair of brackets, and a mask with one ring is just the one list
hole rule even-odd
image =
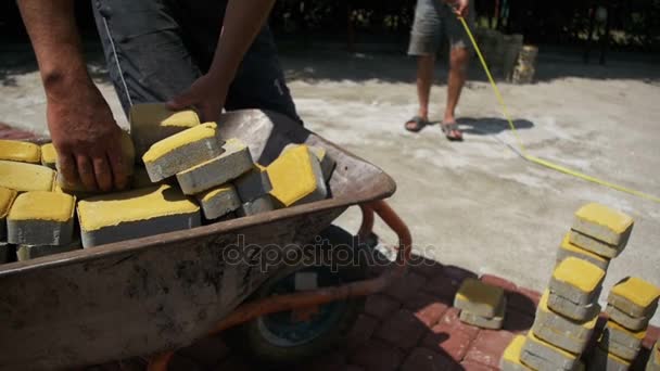
[[142, 161], [155, 183], [221, 155], [223, 144], [218, 126], [206, 123], [154, 143]]

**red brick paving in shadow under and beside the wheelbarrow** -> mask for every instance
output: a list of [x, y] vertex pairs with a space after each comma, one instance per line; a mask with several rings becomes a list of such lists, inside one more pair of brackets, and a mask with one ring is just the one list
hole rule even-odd
[[[11, 129], [0, 123], [0, 139], [34, 138], [29, 132]], [[421, 259], [417, 259], [418, 261]], [[541, 294], [519, 287], [494, 276], [484, 282], [502, 286], [507, 293], [507, 314], [503, 330], [480, 330], [461, 323], [452, 307], [456, 290], [474, 272], [427, 260], [412, 267], [403, 280], [385, 292], [367, 297], [364, 312], [345, 342], [338, 348], [290, 369], [326, 371], [424, 371], [496, 370], [508, 342], [524, 333], [534, 320]], [[605, 317], [599, 321], [602, 329]], [[595, 332], [596, 334], [599, 331]], [[650, 328], [634, 370], [643, 370], [649, 349], [660, 337], [660, 329]], [[593, 348], [592, 342], [591, 348]], [[589, 348], [589, 349], [591, 349]], [[588, 359], [587, 349], [585, 359]], [[107, 363], [94, 370], [142, 370], [145, 360], [136, 358]], [[176, 353], [170, 370], [262, 370], [250, 359], [232, 351], [219, 337], [200, 341]]]

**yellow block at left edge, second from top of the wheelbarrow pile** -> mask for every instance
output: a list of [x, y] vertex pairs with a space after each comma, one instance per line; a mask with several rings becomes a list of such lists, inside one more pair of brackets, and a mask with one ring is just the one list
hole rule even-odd
[[55, 171], [41, 165], [0, 159], [0, 187], [28, 191], [52, 191]]

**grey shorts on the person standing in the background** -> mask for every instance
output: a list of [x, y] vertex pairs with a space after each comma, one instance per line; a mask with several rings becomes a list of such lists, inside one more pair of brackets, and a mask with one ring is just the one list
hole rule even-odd
[[[474, 1], [470, 1], [468, 26], [474, 29]], [[433, 55], [446, 35], [452, 48], [472, 49], [472, 42], [462, 24], [442, 0], [417, 0], [415, 22], [410, 31], [408, 55]]]

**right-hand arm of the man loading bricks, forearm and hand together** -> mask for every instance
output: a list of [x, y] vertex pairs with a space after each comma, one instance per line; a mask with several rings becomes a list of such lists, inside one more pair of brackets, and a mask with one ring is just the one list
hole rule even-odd
[[227, 91], [236, 73], [259, 33], [275, 0], [229, 0], [223, 30], [208, 73], [199, 78], [188, 91], [173, 99], [173, 110], [195, 106], [203, 120], [220, 117]]

